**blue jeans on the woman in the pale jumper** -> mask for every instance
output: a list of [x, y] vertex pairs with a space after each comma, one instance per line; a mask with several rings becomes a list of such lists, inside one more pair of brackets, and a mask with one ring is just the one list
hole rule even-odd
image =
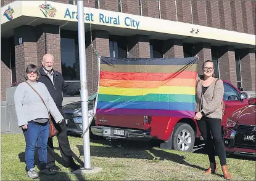
[[38, 160], [40, 168], [45, 169], [47, 165], [47, 141], [49, 137], [49, 121], [36, 123], [28, 121], [28, 129], [23, 129], [26, 141], [25, 162], [27, 170], [34, 168], [36, 144], [38, 146]]

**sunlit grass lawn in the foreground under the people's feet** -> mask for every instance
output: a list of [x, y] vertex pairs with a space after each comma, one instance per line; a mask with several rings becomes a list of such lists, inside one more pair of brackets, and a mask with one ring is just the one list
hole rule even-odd
[[[69, 141], [76, 162], [83, 165], [83, 139], [69, 137]], [[39, 175], [38, 180], [225, 180], [218, 157], [217, 174], [205, 176], [202, 172], [209, 166], [207, 155], [160, 150], [141, 143], [110, 147], [104, 141], [91, 141], [91, 166], [102, 171], [75, 175], [62, 166], [57, 146], [54, 137], [56, 164], [62, 171], [54, 176]], [[22, 134], [1, 134], [1, 180], [31, 180], [25, 172], [24, 150]], [[233, 180], [255, 180], [255, 160], [227, 158], [227, 161]]]

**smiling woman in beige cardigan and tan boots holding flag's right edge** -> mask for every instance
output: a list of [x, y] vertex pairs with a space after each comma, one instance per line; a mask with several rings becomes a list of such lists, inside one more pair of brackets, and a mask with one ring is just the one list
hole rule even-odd
[[[214, 67], [210, 60], [203, 64], [204, 77], [197, 80], [196, 86], [196, 115], [197, 125], [204, 138], [210, 168], [205, 174], [217, 172], [215, 150], [220, 159], [221, 169], [225, 179], [231, 179], [226, 166], [225, 145], [221, 137], [222, 99], [224, 94], [223, 82], [214, 78]], [[213, 138], [212, 138], [213, 137]]]

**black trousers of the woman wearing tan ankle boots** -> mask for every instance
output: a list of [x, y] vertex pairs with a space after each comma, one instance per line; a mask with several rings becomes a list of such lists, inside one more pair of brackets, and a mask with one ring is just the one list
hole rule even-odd
[[215, 150], [220, 159], [221, 166], [226, 165], [225, 145], [221, 136], [221, 120], [202, 117], [201, 120], [197, 121], [197, 125], [204, 138], [210, 166], [213, 168], [215, 165]]

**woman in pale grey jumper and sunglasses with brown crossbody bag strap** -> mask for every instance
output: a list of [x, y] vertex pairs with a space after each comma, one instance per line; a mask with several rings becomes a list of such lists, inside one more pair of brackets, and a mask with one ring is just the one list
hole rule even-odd
[[[30, 64], [25, 74], [27, 82], [20, 83], [14, 93], [18, 125], [22, 128], [26, 141], [26, 170], [28, 177], [31, 179], [38, 178], [34, 166], [36, 144], [38, 145], [40, 172], [48, 175], [55, 174], [55, 172], [47, 169], [47, 141], [49, 137], [48, 110], [57, 123], [61, 123], [64, 120], [46, 86], [37, 81], [38, 77], [38, 67]], [[40, 94], [46, 105], [44, 105], [41, 98], [30, 85]]]

